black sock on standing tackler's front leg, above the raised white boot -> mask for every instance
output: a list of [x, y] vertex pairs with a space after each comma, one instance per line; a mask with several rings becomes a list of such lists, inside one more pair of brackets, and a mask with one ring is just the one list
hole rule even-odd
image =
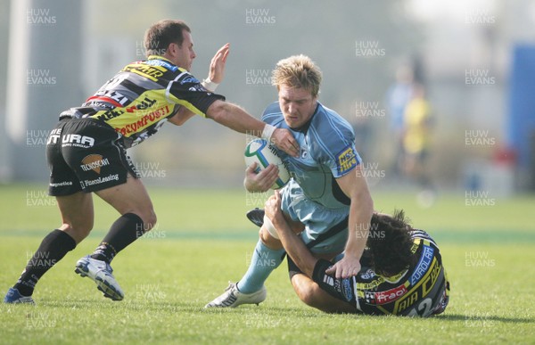
[[103, 260], [109, 264], [119, 251], [125, 249], [128, 244], [136, 241], [143, 234], [143, 219], [134, 213], [124, 214], [113, 223], [91, 258]]

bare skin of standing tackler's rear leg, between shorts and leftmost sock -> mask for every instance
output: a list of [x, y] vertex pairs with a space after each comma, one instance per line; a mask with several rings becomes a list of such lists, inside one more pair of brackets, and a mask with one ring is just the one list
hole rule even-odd
[[56, 196], [56, 201], [62, 214], [60, 230], [70, 234], [78, 244], [93, 229], [95, 211], [91, 193]]

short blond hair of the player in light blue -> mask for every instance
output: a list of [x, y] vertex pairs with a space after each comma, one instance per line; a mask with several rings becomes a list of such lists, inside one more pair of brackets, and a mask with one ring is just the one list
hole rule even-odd
[[284, 85], [304, 88], [316, 97], [321, 84], [321, 70], [308, 56], [293, 55], [276, 63], [271, 83], [277, 89]]

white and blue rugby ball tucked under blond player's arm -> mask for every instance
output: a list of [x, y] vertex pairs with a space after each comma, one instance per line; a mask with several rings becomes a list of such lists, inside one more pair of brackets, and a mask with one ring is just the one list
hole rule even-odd
[[279, 169], [279, 177], [271, 189], [284, 187], [290, 181], [290, 173], [284, 166], [283, 160], [276, 154], [276, 149], [266, 139], [254, 139], [245, 147], [245, 165], [249, 167], [253, 162], [257, 163], [256, 173], [268, 168], [269, 164], [275, 164]]

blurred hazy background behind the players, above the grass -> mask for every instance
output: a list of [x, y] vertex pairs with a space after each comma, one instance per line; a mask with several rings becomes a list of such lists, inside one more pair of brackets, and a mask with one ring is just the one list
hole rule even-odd
[[[129, 62], [161, 19], [192, 29], [192, 73], [231, 53], [218, 88], [260, 117], [276, 62], [307, 54], [319, 101], [356, 131], [372, 189], [491, 204], [535, 191], [530, 0], [0, 0], [0, 183], [47, 185], [45, 142], [69, 107]], [[247, 136], [196, 117], [129, 150], [146, 185], [239, 187]], [[484, 205], [483, 205], [484, 206]]]

